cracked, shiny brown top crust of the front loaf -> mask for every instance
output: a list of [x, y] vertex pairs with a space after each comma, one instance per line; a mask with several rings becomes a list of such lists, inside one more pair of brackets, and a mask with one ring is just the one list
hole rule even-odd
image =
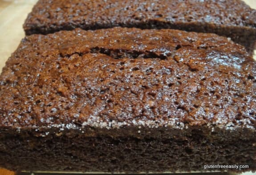
[[1, 127], [256, 128], [256, 63], [215, 34], [26, 36], [0, 76]]

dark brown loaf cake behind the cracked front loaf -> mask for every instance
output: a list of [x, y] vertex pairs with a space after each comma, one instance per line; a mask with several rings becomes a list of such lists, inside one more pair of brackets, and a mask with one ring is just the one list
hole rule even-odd
[[115, 26], [216, 33], [252, 54], [256, 10], [241, 0], [39, 0], [24, 30], [31, 35]]

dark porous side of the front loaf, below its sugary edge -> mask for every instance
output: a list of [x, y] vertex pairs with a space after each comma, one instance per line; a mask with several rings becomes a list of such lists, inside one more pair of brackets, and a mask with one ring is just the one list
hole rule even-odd
[[[216, 131], [204, 135], [203, 128], [183, 131], [154, 128], [145, 130], [146, 137], [85, 136], [78, 131], [49, 131], [52, 132], [45, 137], [31, 130], [2, 132], [5, 138], [0, 138], [0, 156], [4, 160], [0, 160], [0, 166], [27, 171], [126, 173], [256, 170], [255, 145], [252, 146], [255, 137], [251, 140], [247, 137], [252, 132], [238, 138], [241, 136], [238, 132]], [[223, 139], [212, 139], [218, 133]], [[237, 134], [236, 140], [228, 137], [231, 134]], [[203, 169], [206, 164], [249, 165], [249, 168]]]

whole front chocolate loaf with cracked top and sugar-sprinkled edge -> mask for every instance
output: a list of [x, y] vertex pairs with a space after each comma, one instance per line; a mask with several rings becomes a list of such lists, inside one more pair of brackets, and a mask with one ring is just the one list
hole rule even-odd
[[0, 76], [0, 167], [255, 171], [255, 91], [255, 61], [215, 34], [115, 27], [26, 36]]

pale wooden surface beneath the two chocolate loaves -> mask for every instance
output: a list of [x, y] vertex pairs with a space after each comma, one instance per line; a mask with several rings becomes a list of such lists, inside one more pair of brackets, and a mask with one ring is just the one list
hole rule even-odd
[[[256, 0], [244, 1], [256, 9]], [[0, 0], [0, 72], [24, 37], [22, 24], [36, 2], [37, 0]], [[241, 175], [253, 174], [255, 175], [248, 172]], [[14, 175], [14, 172], [0, 169], [0, 175]]]

